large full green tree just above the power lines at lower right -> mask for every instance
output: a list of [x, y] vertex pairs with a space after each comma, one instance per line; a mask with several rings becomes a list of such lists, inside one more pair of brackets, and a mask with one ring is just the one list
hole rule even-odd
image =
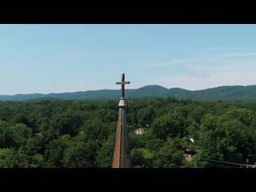
[[242, 150], [238, 147], [244, 142], [241, 137], [242, 122], [223, 116], [206, 115], [202, 119], [198, 146], [202, 158], [221, 161], [242, 162]]

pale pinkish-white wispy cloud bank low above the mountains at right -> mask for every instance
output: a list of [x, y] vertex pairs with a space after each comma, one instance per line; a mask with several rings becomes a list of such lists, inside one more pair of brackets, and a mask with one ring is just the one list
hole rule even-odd
[[194, 59], [182, 68], [184, 74], [160, 76], [149, 84], [187, 90], [256, 84], [256, 52], [216, 54]]

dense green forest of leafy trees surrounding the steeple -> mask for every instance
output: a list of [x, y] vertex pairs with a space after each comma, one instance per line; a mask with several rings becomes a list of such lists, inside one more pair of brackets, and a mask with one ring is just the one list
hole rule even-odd
[[[255, 102], [132, 98], [128, 106], [134, 168], [256, 162]], [[0, 109], [0, 167], [111, 167], [118, 100], [0, 102]], [[146, 133], [134, 134], [140, 127]]]

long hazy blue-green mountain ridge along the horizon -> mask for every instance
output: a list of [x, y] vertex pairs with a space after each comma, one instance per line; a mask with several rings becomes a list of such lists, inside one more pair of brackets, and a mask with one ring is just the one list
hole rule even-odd
[[[120, 90], [88, 90], [62, 94], [16, 94], [0, 95], [0, 101], [26, 101], [42, 98], [63, 100], [86, 99], [118, 99]], [[197, 101], [256, 101], [256, 86], [219, 86], [206, 90], [184, 90], [162, 86], [143, 86], [138, 89], [127, 89], [126, 98], [142, 97], [174, 97], [178, 99], [191, 98]]]

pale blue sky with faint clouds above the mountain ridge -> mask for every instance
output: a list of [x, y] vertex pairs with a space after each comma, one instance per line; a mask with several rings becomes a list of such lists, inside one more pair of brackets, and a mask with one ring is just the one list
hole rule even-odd
[[256, 84], [256, 25], [0, 25], [0, 94]]

